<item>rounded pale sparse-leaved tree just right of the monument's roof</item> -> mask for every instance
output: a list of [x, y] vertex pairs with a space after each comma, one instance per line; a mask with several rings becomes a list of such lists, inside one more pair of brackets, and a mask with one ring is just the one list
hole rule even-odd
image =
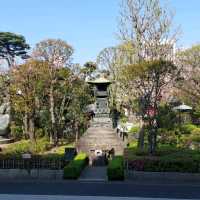
[[[134, 48], [131, 43], [123, 43], [115, 47], [103, 49], [98, 57], [97, 64], [101, 70], [109, 72], [109, 78], [112, 80], [110, 89], [110, 106], [114, 109], [120, 108], [121, 104], [128, 104], [126, 88], [123, 87], [121, 79], [121, 68], [125, 64], [133, 63]], [[128, 98], [127, 98], [128, 97]]]

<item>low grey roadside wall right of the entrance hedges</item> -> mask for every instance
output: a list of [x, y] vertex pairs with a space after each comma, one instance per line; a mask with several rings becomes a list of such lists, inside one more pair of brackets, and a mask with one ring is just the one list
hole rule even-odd
[[143, 172], [127, 170], [125, 172], [128, 180], [159, 180], [159, 181], [199, 181], [200, 173], [180, 172]]

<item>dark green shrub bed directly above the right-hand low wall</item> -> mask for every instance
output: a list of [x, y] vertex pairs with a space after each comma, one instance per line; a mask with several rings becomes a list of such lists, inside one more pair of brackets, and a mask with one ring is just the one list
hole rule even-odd
[[[129, 167], [138, 171], [153, 172], [200, 172], [200, 152], [177, 148], [170, 145], [161, 145], [154, 157], [148, 155], [148, 151], [138, 154], [138, 150], [126, 149], [126, 159]], [[128, 152], [127, 152], [128, 151]]]

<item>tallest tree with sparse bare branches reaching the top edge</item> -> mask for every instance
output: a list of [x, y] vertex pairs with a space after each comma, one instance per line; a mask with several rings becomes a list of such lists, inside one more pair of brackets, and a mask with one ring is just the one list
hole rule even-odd
[[[134, 47], [132, 64], [145, 60], [174, 59], [180, 29], [173, 28], [173, 16], [173, 12], [160, 0], [122, 0], [119, 37], [122, 42], [131, 43]], [[143, 148], [143, 144], [144, 132], [141, 131], [138, 146]]]

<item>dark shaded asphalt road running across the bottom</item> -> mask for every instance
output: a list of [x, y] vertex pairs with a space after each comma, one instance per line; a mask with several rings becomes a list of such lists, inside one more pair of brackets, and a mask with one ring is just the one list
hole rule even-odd
[[200, 199], [200, 184], [1, 180], [0, 194]]

